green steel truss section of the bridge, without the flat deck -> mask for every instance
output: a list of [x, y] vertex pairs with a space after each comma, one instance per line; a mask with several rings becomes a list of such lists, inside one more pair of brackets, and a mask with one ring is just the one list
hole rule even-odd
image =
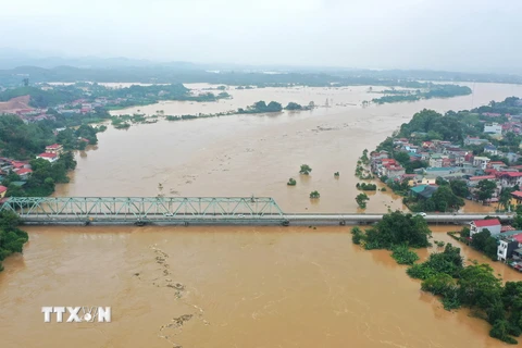
[[29, 223], [284, 221], [268, 197], [11, 197], [0, 211], [16, 212]]

